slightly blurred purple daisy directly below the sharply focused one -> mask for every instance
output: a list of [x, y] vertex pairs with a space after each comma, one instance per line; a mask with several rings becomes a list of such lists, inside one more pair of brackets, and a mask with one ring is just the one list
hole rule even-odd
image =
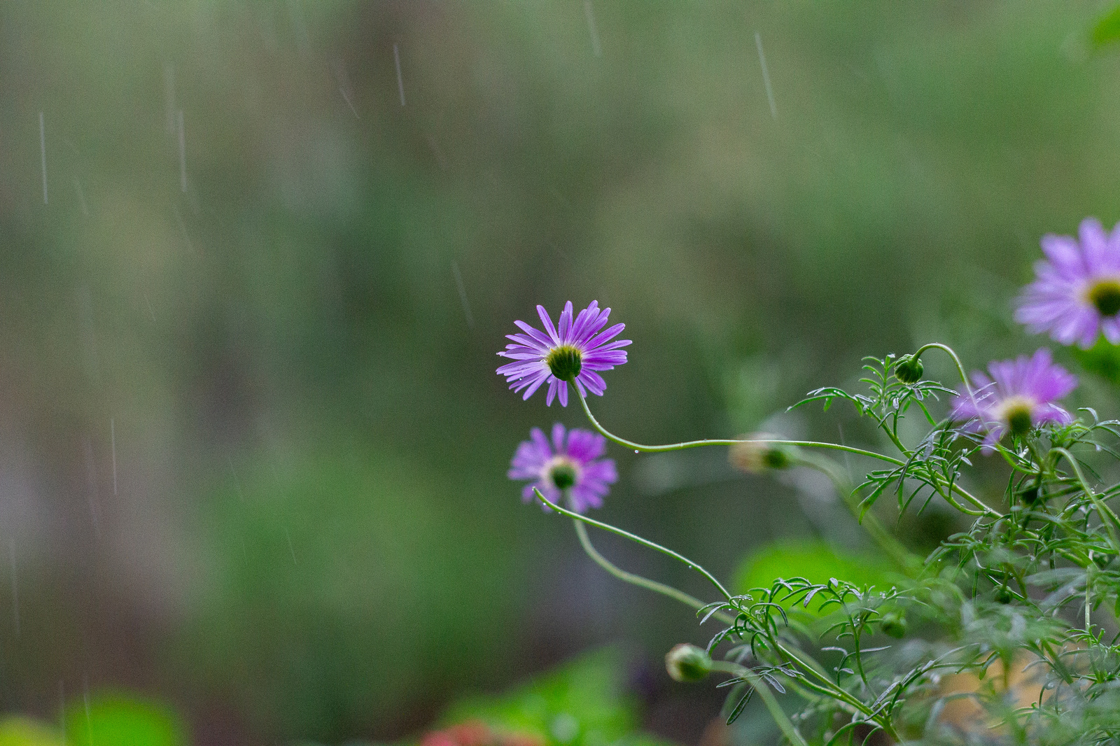
[[536, 487], [558, 505], [567, 495], [568, 506], [577, 513], [603, 506], [603, 496], [610, 492], [608, 485], [618, 481], [614, 459], [599, 458], [607, 450], [606, 438], [580, 429], [566, 435], [559, 422], [552, 426], [551, 442], [540, 428], [533, 428], [529, 437], [510, 463], [511, 479], [532, 479], [521, 491], [522, 500], [533, 500]]

